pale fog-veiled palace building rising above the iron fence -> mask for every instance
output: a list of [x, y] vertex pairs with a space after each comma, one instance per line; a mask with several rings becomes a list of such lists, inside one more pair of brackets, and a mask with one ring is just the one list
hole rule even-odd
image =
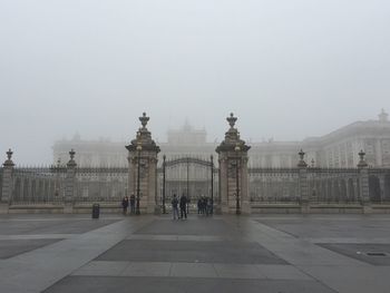
[[[217, 141], [207, 141], [205, 129], [194, 129], [188, 123], [181, 129], [167, 131], [167, 140], [160, 147], [158, 164], [163, 155], [167, 159], [183, 156], [209, 158], [215, 154]], [[62, 139], [52, 146], [53, 162], [66, 163], [71, 148], [76, 150], [76, 163], [80, 167], [127, 167], [126, 141], [82, 140], [79, 135]], [[299, 162], [298, 153], [306, 153], [310, 166], [351, 168], [359, 163], [358, 153], [363, 149], [371, 167], [390, 167], [390, 121], [382, 109], [378, 119], [355, 121], [320, 137], [301, 141], [248, 143], [248, 167], [291, 168]]]

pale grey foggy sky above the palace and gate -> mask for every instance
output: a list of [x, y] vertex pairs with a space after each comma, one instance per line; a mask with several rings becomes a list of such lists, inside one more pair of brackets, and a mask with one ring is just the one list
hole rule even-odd
[[390, 111], [387, 0], [0, 0], [0, 160], [55, 140], [296, 140]]

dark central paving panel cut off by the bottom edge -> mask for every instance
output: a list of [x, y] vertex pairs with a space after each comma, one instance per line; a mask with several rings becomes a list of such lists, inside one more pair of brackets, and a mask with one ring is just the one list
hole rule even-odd
[[255, 279], [211, 279], [211, 277], [104, 277], [68, 276], [45, 293], [334, 293], [316, 281], [273, 281]]

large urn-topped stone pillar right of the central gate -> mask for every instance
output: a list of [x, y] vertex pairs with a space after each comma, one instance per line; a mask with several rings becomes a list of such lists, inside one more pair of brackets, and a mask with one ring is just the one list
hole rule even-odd
[[220, 163], [220, 195], [223, 214], [250, 214], [247, 150], [251, 148], [240, 139], [240, 133], [234, 128], [236, 117], [233, 113], [226, 118], [231, 126], [225, 139], [216, 148]]

